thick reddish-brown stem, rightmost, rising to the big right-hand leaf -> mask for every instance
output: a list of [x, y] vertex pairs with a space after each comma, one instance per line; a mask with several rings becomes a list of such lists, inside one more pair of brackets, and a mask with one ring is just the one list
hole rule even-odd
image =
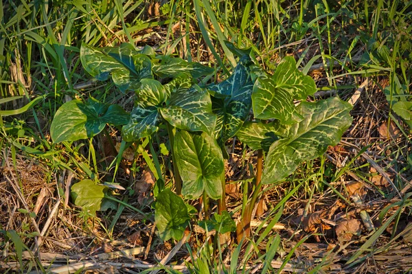
[[243, 238], [249, 237], [251, 233], [253, 207], [255, 207], [255, 203], [256, 200], [258, 200], [260, 190], [262, 190], [262, 163], [263, 152], [262, 150], [258, 150], [258, 165], [255, 178], [255, 190], [253, 190], [251, 201], [247, 204], [244, 212], [242, 212], [242, 221], [239, 222], [238, 226], [236, 227], [236, 237], [238, 239], [238, 243], [240, 243]]

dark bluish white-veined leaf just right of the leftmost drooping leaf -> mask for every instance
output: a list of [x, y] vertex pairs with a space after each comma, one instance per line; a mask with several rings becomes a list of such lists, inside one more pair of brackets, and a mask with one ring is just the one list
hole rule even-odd
[[135, 106], [130, 114], [130, 122], [122, 128], [122, 136], [124, 141], [137, 141], [155, 133], [158, 126], [159, 111], [155, 106]]

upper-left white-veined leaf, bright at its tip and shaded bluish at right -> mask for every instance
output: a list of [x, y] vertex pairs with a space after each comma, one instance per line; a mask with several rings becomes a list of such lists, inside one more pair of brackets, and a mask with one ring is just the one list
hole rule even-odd
[[80, 60], [84, 69], [98, 80], [107, 80], [111, 73], [113, 82], [123, 92], [139, 87], [143, 78], [152, 78], [150, 58], [139, 54], [129, 43], [101, 50], [82, 43]]

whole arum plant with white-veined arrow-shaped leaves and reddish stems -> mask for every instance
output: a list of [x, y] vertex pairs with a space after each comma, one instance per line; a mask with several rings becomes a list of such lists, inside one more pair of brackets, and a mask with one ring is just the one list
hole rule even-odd
[[[198, 79], [210, 76], [214, 69], [159, 56], [150, 47], [136, 50], [122, 44], [95, 49], [83, 44], [84, 69], [97, 80], [111, 77], [123, 93], [134, 91], [135, 106], [127, 113], [115, 104], [72, 100], [60, 107], [52, 122], [55, 143], [91, 139], [111, 124], [122, 128], [124, 146], [141, 144], [143, 139], [151, 146], [152, 136], [160, 128], [167, 129], [175, 192], [163, 187], [154, 193], [155, 221], [163, 240], [183, 237], [196, 216], [196, 209], [185, 201], [203, 197], [205, 220], [199, 225], [220, 233], [236, 230], [240, 242], [249, 236], [262, 185], [280, 183], [302, 161], [321, 156], [339, 142], [352, 122], [351, 105], [338, 98], [306, 102], [317, 89], [292, 57], [284, 58], [271, 75], [255, 65], [249, 49], [227, 46], [239, 58], [233, 73], [220, 83], [201, 84]], [[301, 102], [296, 106], [297, 100]], [[254, 189], [250, 197], [246, 195], [237, 227], [225, 204], [225, 143], [232, 137], [258, 151]], [[157, 171], [163, 180], [161, 170]], [[76, 205], [93, 213], [101, 209], [108, 190], [98, 183], [95, 179], [73, 185]], [[88, 184], [99, 188], [93, 192], [98, 196], [85, 190]], [[209, 199], [218, 201], [212, 218]]]

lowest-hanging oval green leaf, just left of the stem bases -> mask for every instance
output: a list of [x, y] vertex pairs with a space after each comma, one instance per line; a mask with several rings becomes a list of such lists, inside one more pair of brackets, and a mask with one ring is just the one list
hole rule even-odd
[[183, 199], [166, 188], [157, 195], [155, 221], [163, 240], [181, 240], [190, 216]]

